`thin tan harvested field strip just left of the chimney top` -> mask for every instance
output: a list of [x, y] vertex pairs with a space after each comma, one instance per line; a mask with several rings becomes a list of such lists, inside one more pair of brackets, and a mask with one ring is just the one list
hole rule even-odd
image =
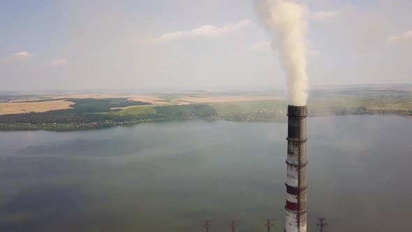
[[282, 100], [282, 96], [191, 96], [175, 99], [177, 102], [190, 103], [222, 103], [234, 101], [267, 101], [267, 100]]

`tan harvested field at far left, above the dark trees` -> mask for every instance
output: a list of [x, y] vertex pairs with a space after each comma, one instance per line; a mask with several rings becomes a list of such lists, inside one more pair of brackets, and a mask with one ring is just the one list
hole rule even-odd
[[71, 109], [73, 101], [41, 101], [41, 102], [10, 102], [0, 103], [0, 115], [20, 114], [29, 112], [46, 112], [50, 110]]

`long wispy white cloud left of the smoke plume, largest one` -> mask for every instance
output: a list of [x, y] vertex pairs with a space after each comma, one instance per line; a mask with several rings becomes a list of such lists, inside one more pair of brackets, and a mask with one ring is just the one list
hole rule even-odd
[[242, 27], [246, 27], [250, 24], [250, 22], [251, 20], [241, 20], [240, 22], [226, 24], [221, 27], [206, 24], [201, 27], [191, 29], [190, 31], [168, 32], [154, 38], [145, 38], [140, 42], [144, 44], [158, 44], [181, 38], [219, 38], [221, 36], [232, 34]]

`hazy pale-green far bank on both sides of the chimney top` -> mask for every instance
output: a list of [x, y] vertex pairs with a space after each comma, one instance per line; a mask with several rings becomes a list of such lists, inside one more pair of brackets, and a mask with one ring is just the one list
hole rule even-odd
[[[209, 103], [216, 119], [239, 122], [286, 122], [287, 101], [242, 101]], [[362, 96], [309, 99], [311, 117], [325, 115], [392, 114], [412, 117], [411, 96]]]

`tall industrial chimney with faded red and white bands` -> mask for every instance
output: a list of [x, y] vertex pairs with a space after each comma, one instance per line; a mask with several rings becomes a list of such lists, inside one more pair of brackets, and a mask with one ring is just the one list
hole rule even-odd
[[307, 106], [288, 106], [286, 232], [307, 231]]

